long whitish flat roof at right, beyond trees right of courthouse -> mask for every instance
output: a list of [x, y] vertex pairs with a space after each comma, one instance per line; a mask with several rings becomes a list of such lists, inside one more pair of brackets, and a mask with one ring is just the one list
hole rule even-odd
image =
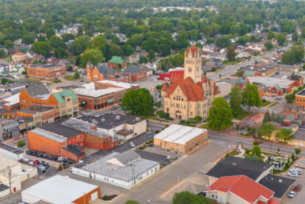
[[279, 86], [281, 89], [287, 89], [291, 84], [295, 83], [295, 81], [274, 77], [247, 77], [247, 79], [252, 83], [264, 84], [268, 87]]

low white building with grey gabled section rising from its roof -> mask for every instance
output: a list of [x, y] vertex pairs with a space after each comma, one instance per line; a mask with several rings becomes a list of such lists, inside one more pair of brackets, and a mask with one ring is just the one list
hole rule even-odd
[[159, 163], [141, 158], [133, 149], [121, 154], [113, 152], [87, 165], [80, 163], [71, 168], [72, 174], [127, 189], [152, 176], [159, 169]]

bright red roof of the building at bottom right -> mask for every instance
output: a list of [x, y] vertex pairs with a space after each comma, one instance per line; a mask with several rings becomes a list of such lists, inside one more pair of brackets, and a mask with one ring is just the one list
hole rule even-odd
[[275, 192], [247, 176], [221, 177], [211, 185], [209, 191], [232, 192], [249, 203], [255, 203], [260, 197], [263, 197], [268, 200], [268, 204], [277, 204], [274, 203], [277, 199], [272, 199]]

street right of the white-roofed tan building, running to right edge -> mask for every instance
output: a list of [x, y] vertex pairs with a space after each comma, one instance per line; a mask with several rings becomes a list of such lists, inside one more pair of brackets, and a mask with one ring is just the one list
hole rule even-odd
[[[243, 142], [243, 145], [246, 148], [253, 147], [253, 140], [247, 139], [247, 138], [237, 138], [233, 136], [227, 136], [225, 134], [219, 134], [219, 133], [209, 133], [209, 139], [213, 140], [214, 144], [221, 145], [223, 147], [227, 147], [227, 144], [232, 144], [232, 141], [237, 144], [237, 142]], [[263, 141], [259, 145], [262, 150], [270, 151], [270, 143], [268, 141]], [[287, 146], [287, 145], [280, 145], [280, 144], [272, 144], [271, 145], [272, 152], [277, 152], [277, 148], [280, 149], [281, 153], [291, 155], [292, 153], [295, 154], [295, 147]], [[302, 151], [299, 156], [305, 157], [305, 151]]]

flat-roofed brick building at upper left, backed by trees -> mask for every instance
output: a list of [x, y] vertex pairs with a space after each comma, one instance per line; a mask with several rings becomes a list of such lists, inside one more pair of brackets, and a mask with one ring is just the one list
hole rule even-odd
[[39, 80], [57, 80], [66, 76], [66, 66], [57, 64], [31, 64], [26, 66], [28, 77]]

